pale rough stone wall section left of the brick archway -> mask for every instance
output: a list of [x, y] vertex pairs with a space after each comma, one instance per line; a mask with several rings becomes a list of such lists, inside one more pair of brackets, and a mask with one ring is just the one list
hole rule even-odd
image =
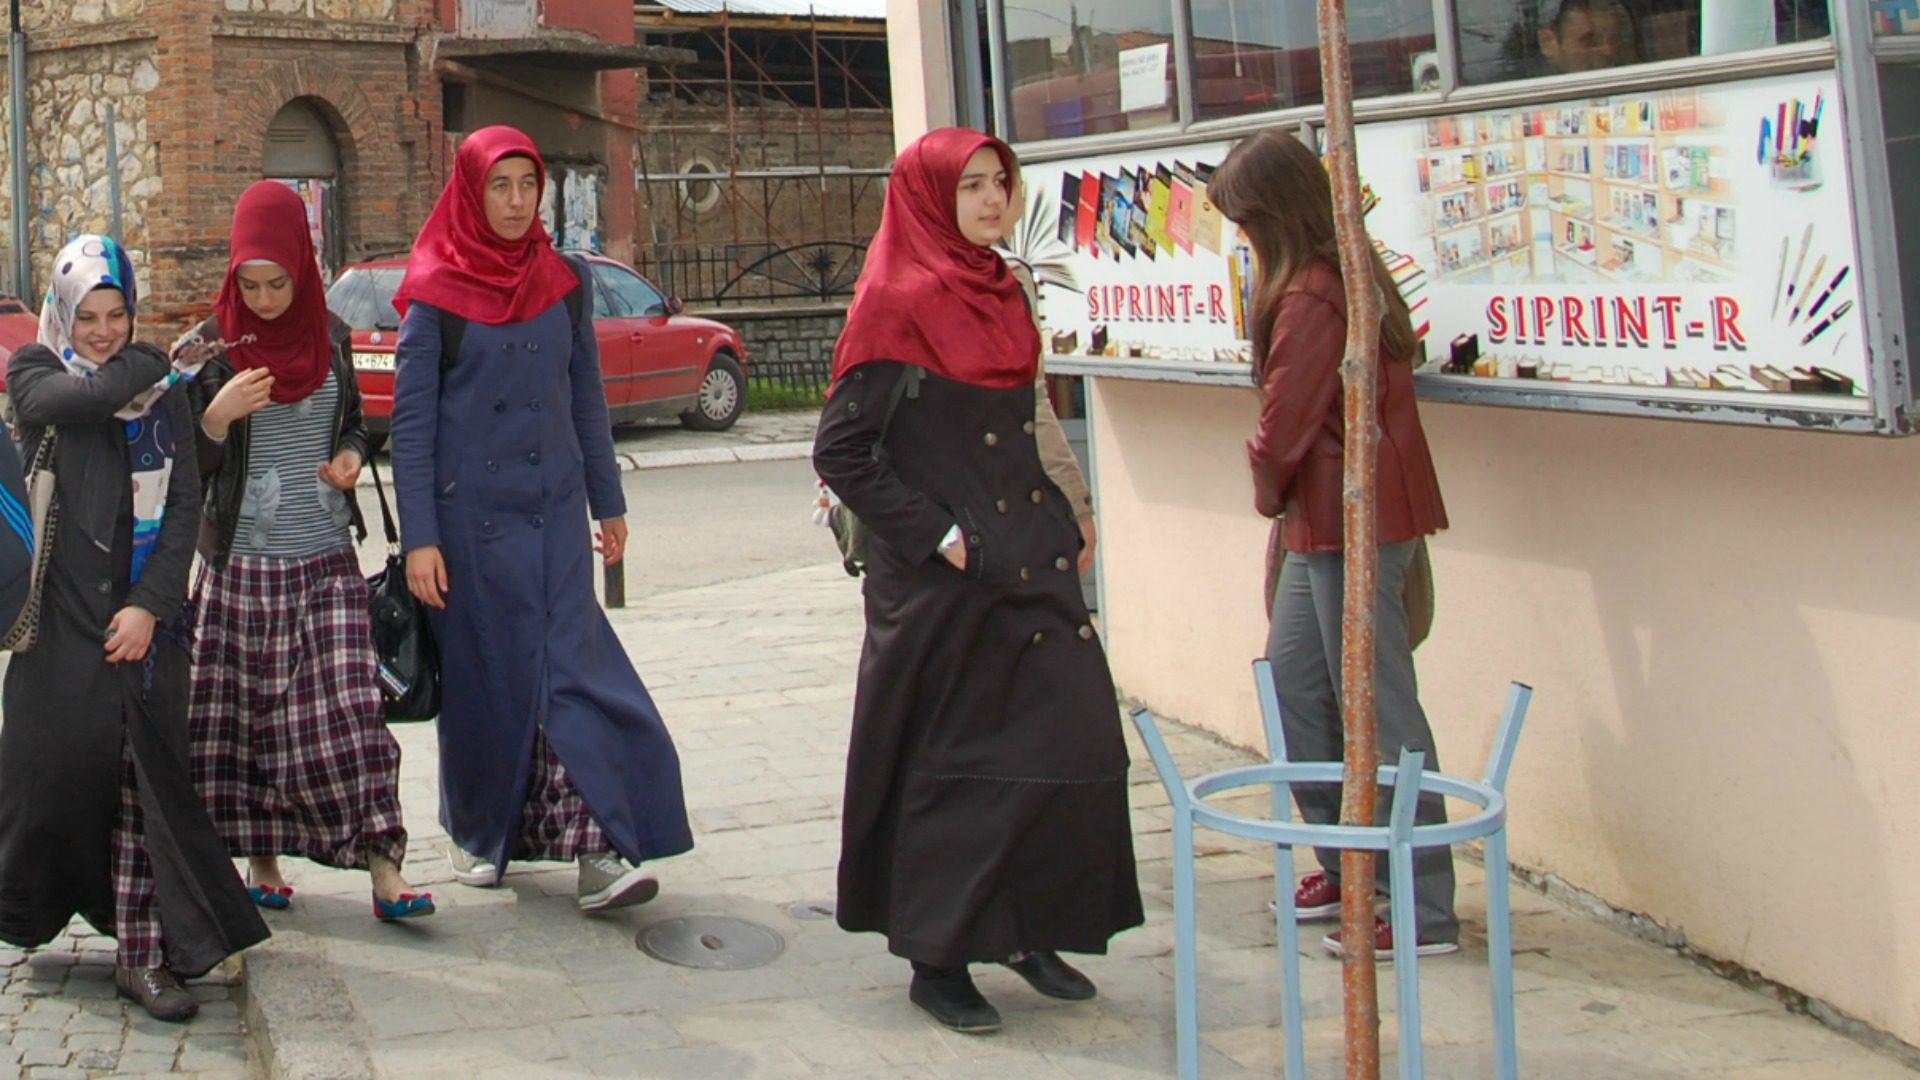
[[[148, 135], [146, 94], [159, 85], [152, 40], [35, 52], [27, 67], [27, 156], [31, 202], [27, 208], [35, 281], [60, 248], [79, 233], [111, 227], [111, 175], [108, 169], [108, 106], [119, 150], [121, 240], [127, 244], [140, 290], [152, 288], [146, 258], [150, 202], [159, 192], [159, 161]], [[0, 133], [6, 115], [6, 77], [0, 69]], [[0, 156], [0, 254], [12, 267], [13, 161]], [[12, 281], [8, 282], [13, 284]], [[36, 302], [38, 290], [27, 300]]]

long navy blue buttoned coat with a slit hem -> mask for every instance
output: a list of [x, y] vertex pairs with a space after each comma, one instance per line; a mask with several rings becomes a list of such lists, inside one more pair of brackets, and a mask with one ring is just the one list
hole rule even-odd
[[[578, 267], [576, 267], [578, 269]], [[595, 521], [626, 513], [593, 342], [564, 304], [468, 323], [442, 371], [440, 311], [415, 302], [396, 348], [394, 488], [405, 550], [438, 544], [447, 607], [440, 822], [505, 871], [536, 728], [630, 861], [693, 847], [680, 759], [593, 596]]]

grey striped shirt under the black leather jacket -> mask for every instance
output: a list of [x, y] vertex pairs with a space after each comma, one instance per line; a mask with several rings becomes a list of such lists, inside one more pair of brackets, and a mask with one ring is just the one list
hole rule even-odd
[[234, 552], [305, 559], [351, 544], [348, 494], [321, 480], [334, 455], [338, 377], [301, 402], [269, 402], [248, 421], [246, 498], [234, 527]]

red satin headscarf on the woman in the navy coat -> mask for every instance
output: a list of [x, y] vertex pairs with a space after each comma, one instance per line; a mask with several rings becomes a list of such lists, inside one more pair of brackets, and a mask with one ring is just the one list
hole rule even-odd
[[486, 175], [501, 158], [532, 160], [540, 190], [547, 190], [547, 165], [522, 131], [499, 125], [468, 135], [453, 158], [453, 177], [413, 240], [407, 277], [394, 294], [401, 315], [407, 304], [424, 300], [470, 323], [524, 323], [580, 284], [540, 217], [518, 240], [503, 240], [488, 225]]

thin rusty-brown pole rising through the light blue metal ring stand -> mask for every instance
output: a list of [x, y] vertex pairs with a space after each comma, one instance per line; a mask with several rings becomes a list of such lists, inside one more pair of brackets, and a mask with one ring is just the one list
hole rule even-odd
[[[1321, 86], [1327, 96], [1327, 169], [1332, 175], [1340, 277], [1346, 281], [1346, 471], [1344, 559], [1340, 598], [1340, 700], [1346, 769], [1340, 822], [1375, 822], [1375, 774], [1380, 751], [1373, 724], [1373, 596], [1379, 548], [1373, 521], [1373, 473], [1379, 442], [1377, 384], [1380, 350], [1380, 282], [1373, 277], [1373, 242], [1361, 219], [1359, 165], [1354, 160], [1354, 69], [1346, 40], [1346, 0], [1319, 0]], [[1411, 934], [1413, 926], [1396, 926]], [[1340, 853], [1340, 942], [1346, 1011], [1346, 1078], [1380, 1076], [1380, 1001], [1373, 961], [1373, 851]]]

